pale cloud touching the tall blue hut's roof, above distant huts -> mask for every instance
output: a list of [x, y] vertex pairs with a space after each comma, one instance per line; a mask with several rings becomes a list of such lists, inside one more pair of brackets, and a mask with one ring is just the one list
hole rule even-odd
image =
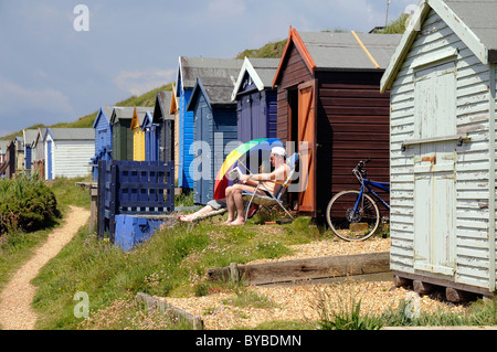
[[121, 71], [113, 82], [119, 89], [138, 96], [171, 83], [175, 76], [176, 70]]

